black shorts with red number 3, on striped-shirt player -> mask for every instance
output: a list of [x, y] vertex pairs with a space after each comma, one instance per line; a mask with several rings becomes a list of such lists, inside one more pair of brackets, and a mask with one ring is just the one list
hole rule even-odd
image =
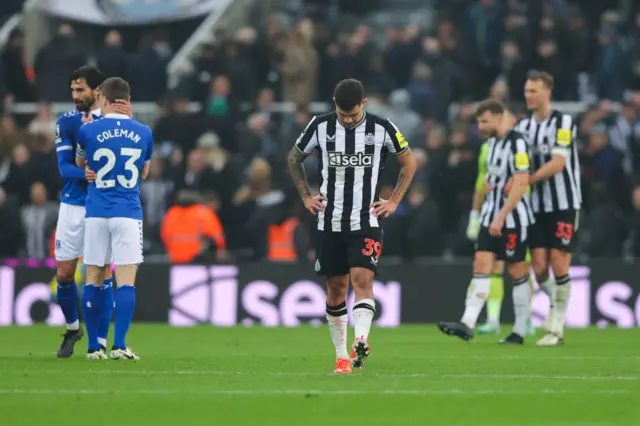
[[524, 262], [529, 244], [529, 229], [513, 228], [502, 230], [500, 237], [493, 237], [489, 228], [481, 227], [476, 242], [476, 251], [488, 251], [496, 255], [497, 260], [507, 263]]

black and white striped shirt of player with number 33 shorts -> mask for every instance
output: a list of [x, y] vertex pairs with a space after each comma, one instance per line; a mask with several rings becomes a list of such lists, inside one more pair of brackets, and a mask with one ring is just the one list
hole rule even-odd
[[554, 154], [566, 159], [562, 172], [531, 186], [531, 206], [534, 213], [579, 210], [582, 204], [580, 163], [575, 143], [576, 126], [569, 114], [553, 110], [542, 121], [533, 115], [523, 118], [516, 130], [528, 136], [531, 146], [531, 168], [535, 172], [551, 161]]

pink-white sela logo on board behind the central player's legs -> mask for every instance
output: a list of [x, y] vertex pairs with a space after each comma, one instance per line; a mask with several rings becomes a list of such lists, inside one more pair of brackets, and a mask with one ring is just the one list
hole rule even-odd
[[[374, 283], [380, 312], [375, 321], [378, 327], [400, 325], [400, 287], [397, 282]], [[240, 285], [235, 266], [174, 266], [170, 292], [169, 324], [175, 326], [199, 323], [217, 326], [258, 323], [267, 327], [319, 325], [325, 318], [327, 300], [324, 287], [315, 281], [300, 280], [278, 286], [256, 280]], [[351, 293], [348, 306], [353, 306], [353, 299]]]

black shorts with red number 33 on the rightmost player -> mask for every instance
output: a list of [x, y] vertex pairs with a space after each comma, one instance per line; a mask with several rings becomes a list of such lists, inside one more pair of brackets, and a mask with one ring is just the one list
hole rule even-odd
[[558, 249], [571, 253], [578, 235], [579, 210], [536, 214], [529, 244], [532, 249]]

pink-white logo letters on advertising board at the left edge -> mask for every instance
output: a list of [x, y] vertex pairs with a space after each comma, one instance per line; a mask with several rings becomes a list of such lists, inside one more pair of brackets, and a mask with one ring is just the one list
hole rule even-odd
[[15, 271], [8, 266], [0, 267], [0, 326], [32, 325], [32, 310], [36, 304], [48, 305], [45, 323], [64, 325], [60, 307], [51, 303], [51, 290], [47, 283], [29, 283], [16, 294]]

